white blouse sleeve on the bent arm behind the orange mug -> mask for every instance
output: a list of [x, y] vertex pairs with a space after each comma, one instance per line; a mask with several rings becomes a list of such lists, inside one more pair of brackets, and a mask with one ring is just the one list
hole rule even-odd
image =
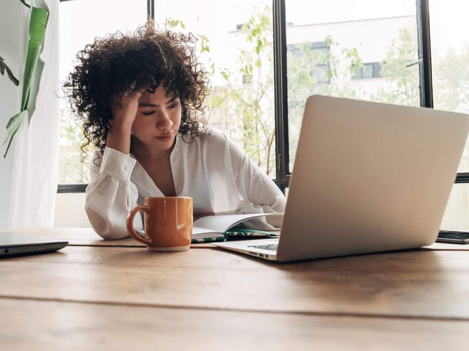
[[[126, 218], [137, 206], [137, 186], [130, 175], [137, 161], [128, 154], [106, 147], [104, 156], [91, 162], [91, 181], [86, 190], [84, 210], [93, 227], [103, 239], [128, 237]], [[134, 220], [136, 230], [143, 228], [141, 215]]]

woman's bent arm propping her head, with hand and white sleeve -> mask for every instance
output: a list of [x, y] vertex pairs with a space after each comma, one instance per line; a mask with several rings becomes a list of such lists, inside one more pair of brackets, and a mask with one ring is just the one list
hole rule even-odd
[[[104, 155], [91, 162], [85, 210], [91, 226], [104, 239], [128, 237], [126, 217], [137, 205], [137, 186], [130, 182], [136, 162], [130, 157], [130, 136], [140, 96], [137, 91], [115, 97]], [[135, 227], [143, 228], [140, 215], [135, 216]]]

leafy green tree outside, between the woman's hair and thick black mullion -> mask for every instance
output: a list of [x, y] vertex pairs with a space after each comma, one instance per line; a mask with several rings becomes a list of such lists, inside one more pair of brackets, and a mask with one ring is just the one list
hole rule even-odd
[[253, 161], [275, 175], [275, 112], [273, 81], [273, 25], [271, 8], [257, 10], [242, 25], [246, 45], [238, 54], [236, 70], [217, 67], [214, 73], [225, 87], [211, 88], [220, 122], [229, 125], [230, 136], [243, 146]]

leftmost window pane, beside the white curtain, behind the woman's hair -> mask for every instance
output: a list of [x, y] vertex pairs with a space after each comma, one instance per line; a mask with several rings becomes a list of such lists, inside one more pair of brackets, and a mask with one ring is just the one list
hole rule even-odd
[[[108, 33], [134, 31], [146, 22], [146, 0], [80, 0], [60, 2], [60, 80], [73, 69], [78, 51]], [[87, 164], [81, 162], [82, 129], [60, 106], [59, 184], [88, 182]]]

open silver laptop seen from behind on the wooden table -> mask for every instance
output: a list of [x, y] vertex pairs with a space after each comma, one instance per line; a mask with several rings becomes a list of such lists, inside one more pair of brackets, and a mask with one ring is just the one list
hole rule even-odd
[[279, 239], [214, 243], [273, 261], [435, 242], [469, 116], [314, 95]]

